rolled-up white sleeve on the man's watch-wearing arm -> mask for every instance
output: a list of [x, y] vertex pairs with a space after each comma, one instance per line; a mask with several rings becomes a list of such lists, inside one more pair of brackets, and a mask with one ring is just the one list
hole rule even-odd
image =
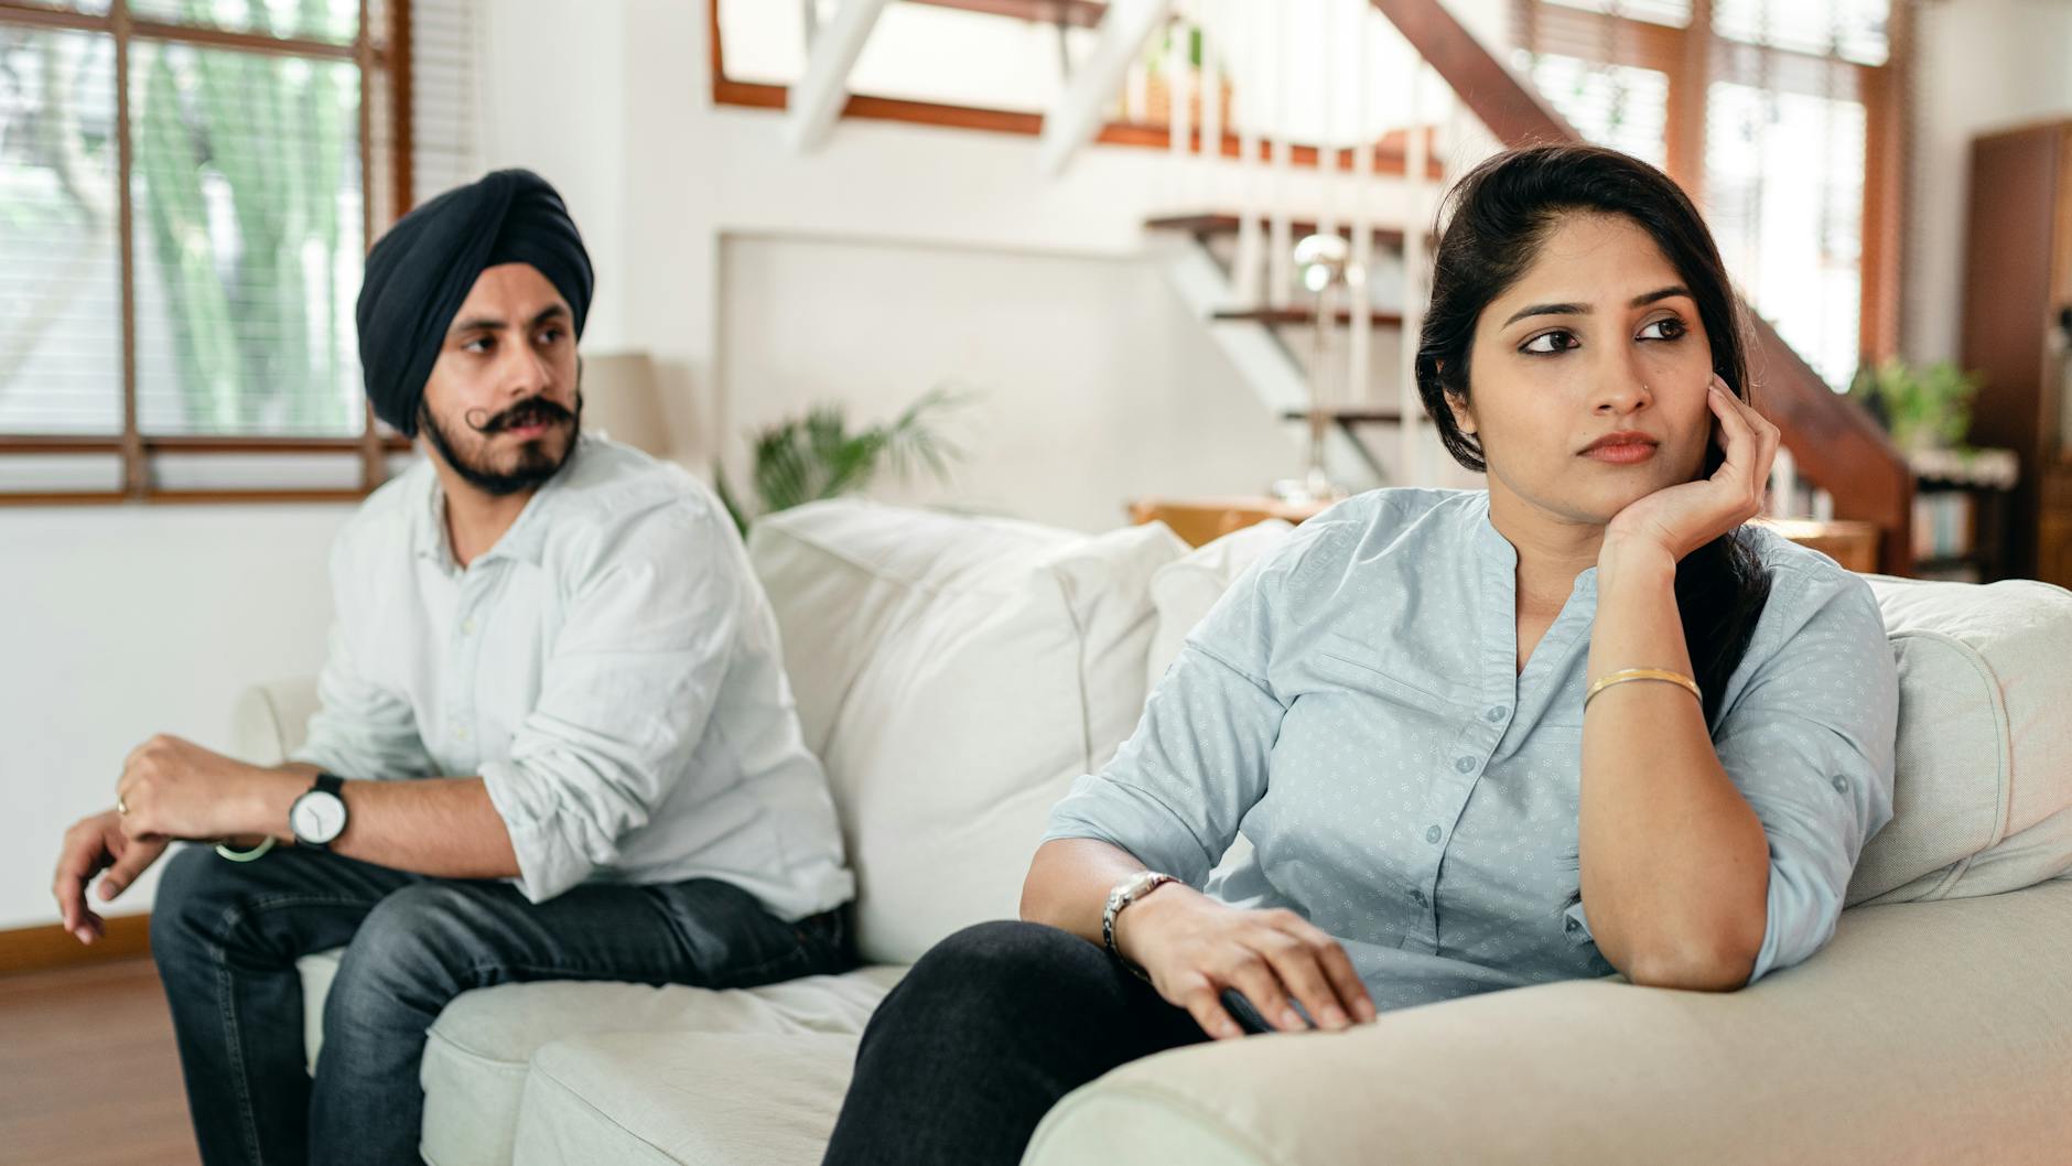
[[539, 702], [481, 766], [541, 903], [609, 866], [682, 781], [733, 659], [746, 563], [715, 516], [661, 507], [580, 576]]

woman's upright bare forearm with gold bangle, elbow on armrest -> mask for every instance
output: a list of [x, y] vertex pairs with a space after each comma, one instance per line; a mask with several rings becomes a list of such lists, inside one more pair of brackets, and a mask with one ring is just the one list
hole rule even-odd
[[[1691, 675], [1668, 555], [1600, 557], [1589, 679], [1620, 669]], [[1697, 700], [1616, 683], [1583, 717], [1579, 847], [1589, 930], [1633, 980], [1732, 988], [1761, 944], [1763, 824], [1734, 787]]]

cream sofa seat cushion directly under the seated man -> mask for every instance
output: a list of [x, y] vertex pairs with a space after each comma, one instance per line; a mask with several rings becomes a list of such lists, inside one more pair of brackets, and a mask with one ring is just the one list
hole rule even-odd
[[[323, 1040], [323, 992], [338, 953], [303, 957], [298, 967], [315, 1067]], [[543, 1046], [557, 1040], [605, 1033], [642, 1033], [665, 1042], [684, 1033], [835, 1036], [854, 1050], [872, 1009], [903, 973], [903, 967], [874, 965], [723, 992], [572, 980], [464, 992], [439, 1013], [425, 1042], [419, 1069], [425, 1085], [425, 1160], [433, 1166], [510, 1162], [530, 1065]]]

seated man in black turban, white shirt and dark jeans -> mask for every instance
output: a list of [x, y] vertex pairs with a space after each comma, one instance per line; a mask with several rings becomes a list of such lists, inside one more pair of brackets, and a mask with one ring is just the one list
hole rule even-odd
[[[332, 551], [307, 739], [255, 766], [151, 737], [66, 835], [83, 942], [95, 874], [114, 899], [170, 841], [228, 839], [166, 864], [151, 920], [205, 1162], [416, 1162], [425, 1033], [470, 988], [856, 961], [833, 799], [733, 524], [682, 468], [580, 433], [591, 290], [524, 170], [375, 244], [367, 396], [427, 458]], [[296, 959], [334, 949], [311, 1079]]]

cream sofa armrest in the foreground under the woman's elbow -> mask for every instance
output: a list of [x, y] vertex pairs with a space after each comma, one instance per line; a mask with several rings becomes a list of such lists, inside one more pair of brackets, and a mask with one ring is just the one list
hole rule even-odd
[[1150, 1056], [1059, 1102], [1024, 1166], [2043, 1164], [2068, 1098], [2060, 878], [1844, 911], [1743, 992], [1575, 980]]

